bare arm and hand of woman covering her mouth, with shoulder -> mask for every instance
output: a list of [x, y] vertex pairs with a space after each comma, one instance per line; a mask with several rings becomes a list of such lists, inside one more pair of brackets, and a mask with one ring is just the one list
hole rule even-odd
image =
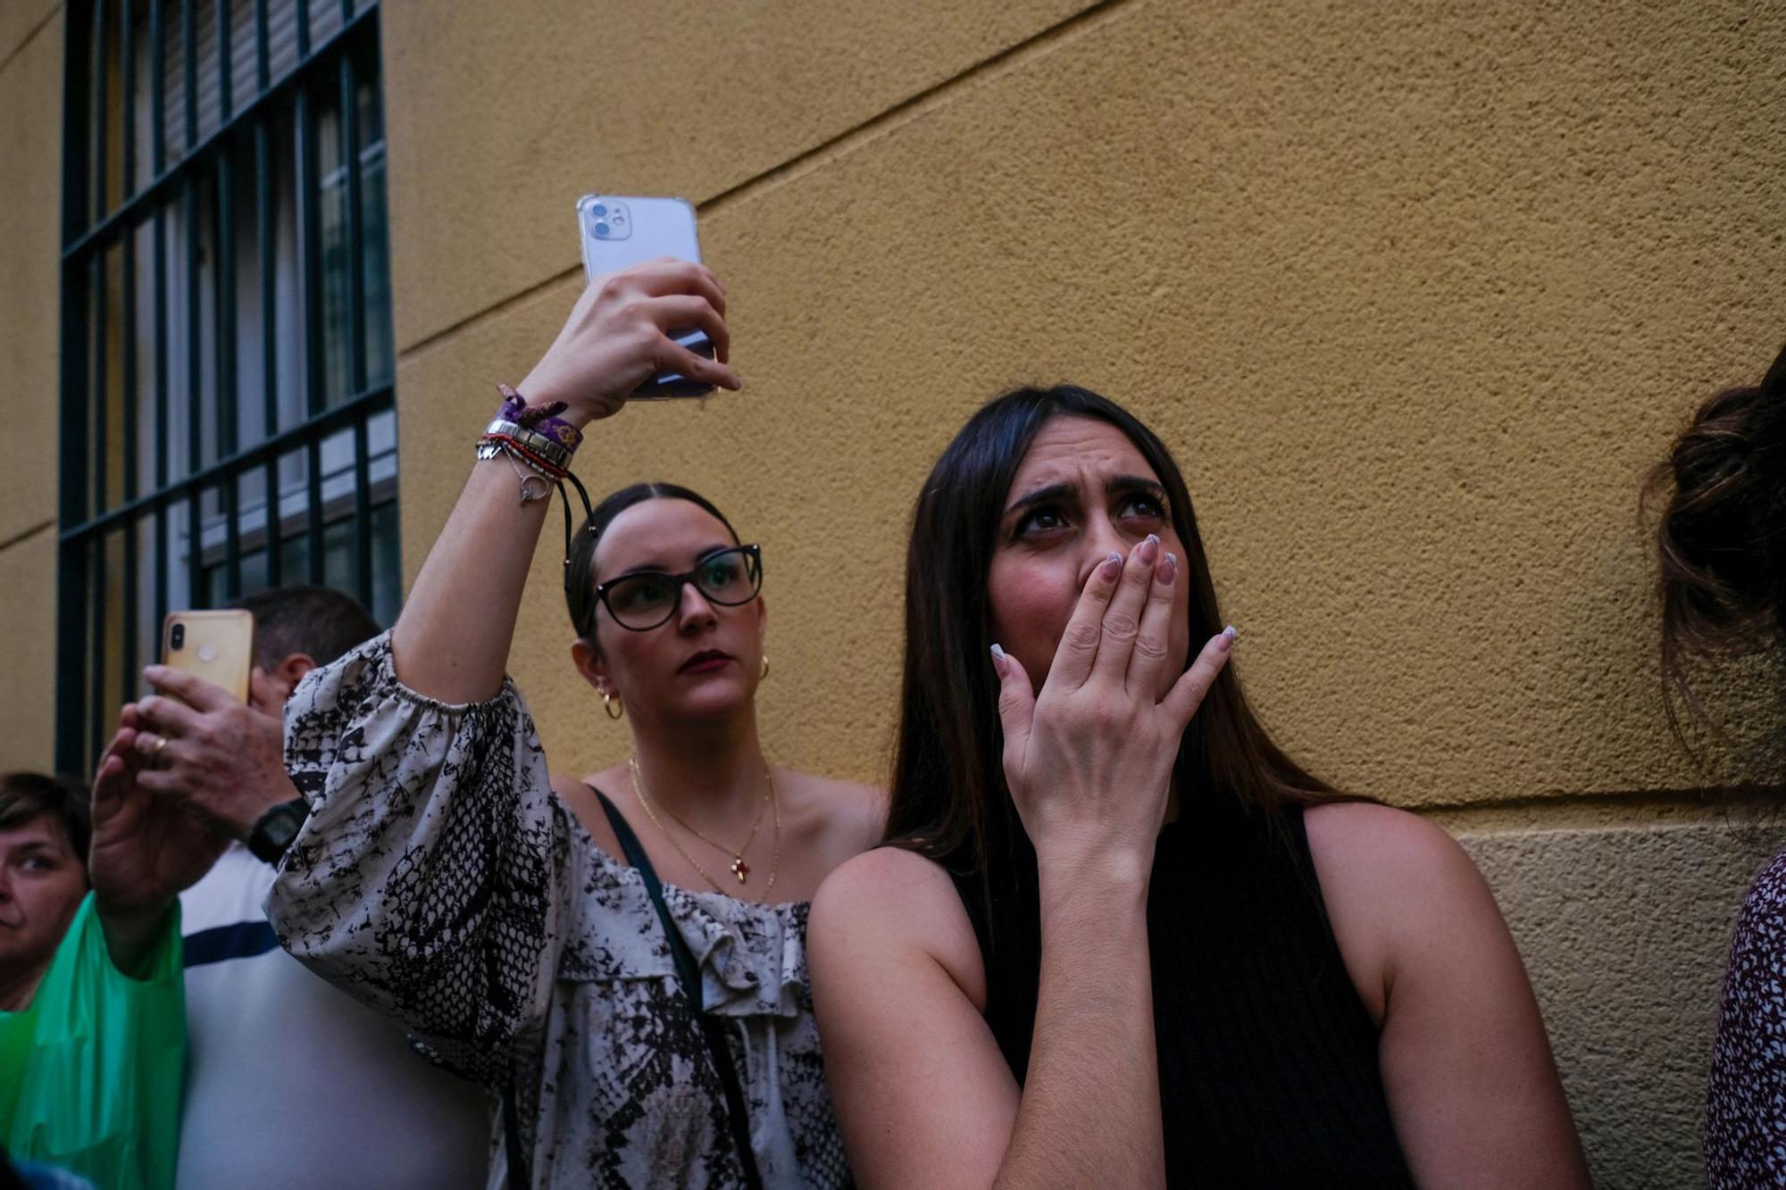
[[820, 890], [814, 1001], [864, 1186], [1164, 1185], [1147, 890], [1172, 759], [1231, 645], [1211, 640], [1156, 700], [1175, 581], [1152, 538], [1102, 563], [1039, 695], [995, 658], [1041, 893], [1022, 1088], [981, 1017], [984, 970], [941, 868], [870, 852]]

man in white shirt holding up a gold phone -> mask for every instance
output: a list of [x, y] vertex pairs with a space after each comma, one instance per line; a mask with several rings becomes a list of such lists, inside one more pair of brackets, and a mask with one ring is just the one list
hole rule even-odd
[[402, 1029], [279, 949], [264, 901], [307, 808], [286, 775], [280, 715], [316, 665], [377, 634], [354, 599], [261, 591], [248, 702], [164, 666], [125, 706], [145, 851], [107, 926], [134, 961], [141, 922], [180, 904], [188, 1072], [179, 1186], [480, 1186], [488, 1106], [411, 1052]]

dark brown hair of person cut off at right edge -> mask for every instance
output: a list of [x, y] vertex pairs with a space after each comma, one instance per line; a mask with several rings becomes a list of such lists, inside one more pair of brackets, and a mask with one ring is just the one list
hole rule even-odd
[[1786, 640], [1786, 352], [1761, 384], [1707, 398], [1650, 475], [1666, 495], [1656, 527], [1663, 704], [1713, 725], [1688, 683], [1695, 656]]

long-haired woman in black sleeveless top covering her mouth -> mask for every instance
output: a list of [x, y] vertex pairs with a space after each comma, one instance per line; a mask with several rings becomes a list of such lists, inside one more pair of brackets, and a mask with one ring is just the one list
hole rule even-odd
[[813, 906], [864, 1186], [1586, 1186], [1493, 897], [1231, 666], [1184, 479], [1079, 388], [918, 497], [888, 840]]

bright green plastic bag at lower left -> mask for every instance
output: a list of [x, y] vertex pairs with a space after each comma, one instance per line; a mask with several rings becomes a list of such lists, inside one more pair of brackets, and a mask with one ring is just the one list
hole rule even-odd
[[30, 1008], [0, 1013], [0, 1140], [16, 1160], [104, 1190], [168, 1190], [184, 1076], [179, 906], [145, 977], [130, 979], [113, 967], [88, 893]]

